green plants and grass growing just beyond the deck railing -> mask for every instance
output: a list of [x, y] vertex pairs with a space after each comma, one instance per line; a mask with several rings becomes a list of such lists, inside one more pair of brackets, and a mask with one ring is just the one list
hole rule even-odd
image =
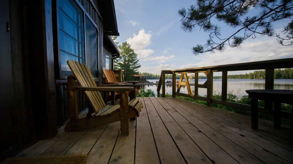
[[[250, 99], [248, 98], [248, 96], [244, 95], [244, 96], [239, 97], [238, 96], [239, 91], [240, 90], [237, 91], [237, 95], [233, 94], [233, 90], [228, 92], [227, 101], [241, 103], [241, 104], [249, 104], [250, 105]], [[160, 94], [160, 97], [162, 97], [162, 94]], [[172, 95], [169, 94], [169, 93], [165, 93], [165, 97], [172, 97]], [[203, 97], [207, 97], [207, 96], [204, 95]], [[207, 105], [206, 101], [197, 100], [197, 99], [193, 99], [193, 98], [189, 98], [189, 97], [176, 96], [176, 98], [180, 98], [180, 99], [183, 99], [183, 100], [195, 102], [195, 103], [198, 103], [198, 104]], [[222, 94], [214, 92], [213, 99], [221, 100], [222, 99]], [[263, 100], [258, 100], [258, 106], [259, 107], [264, 107], [265, 102]], [[230, 107], [230, 106], [226, 106], [226, 105], [222, 105], [222, 104], [213, 103], [213, 107], [216, 107], [216, 108], [219, 108], [219, 109], [224, 109], [224, 110], [227, 110], [227, 111], [236, 112], [236, 113], [239, 113], [239, 114], [245, 114], [245, 115], [248, 115], [248, 116], [251, 115], [250, 110], [246, 111], [246, 110], [243, 110], [243, 109], [238, 109], [238, 108], [235, 108], [235, 107]], [[290, 105], [290, 104], [281, 104], [281, 110], [291, 112], [292, 111], [292, 105]], [[259, 113], [258, 116], [261, 119], [265, 119], [265, 120], [269, 120], [269, 121], [274, 120], [274, 116], [272, 116], [272, 115]], [[290, 119], [282, 118], [282, 124], [290, 125]]]

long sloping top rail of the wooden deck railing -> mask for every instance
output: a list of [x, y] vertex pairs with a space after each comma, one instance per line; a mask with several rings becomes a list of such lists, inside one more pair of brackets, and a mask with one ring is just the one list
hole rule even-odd
[[[214, 71], [243, 71], [243, 70], [255, 70], [255, 69], [277, 69], [277, 68], [292, 68], [293, 58], [276, 59], [276, 60], [264, 60], [258, 62], [245, 62], [236, 64], [225, 64], [209, 67], [196, 67], [186, 69], [173, 69], [171, 72], [192, 72], [192, 71], [204, 71], [212, 69]], [[162, 70], [170, 71], [170, 70]]]

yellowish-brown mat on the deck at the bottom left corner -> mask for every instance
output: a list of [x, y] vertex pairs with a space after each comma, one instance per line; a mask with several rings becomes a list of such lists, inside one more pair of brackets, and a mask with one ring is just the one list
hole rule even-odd
[[47, 156], [35, 158], [7, 158], [1, 164], [84, 164], [87, 156]]

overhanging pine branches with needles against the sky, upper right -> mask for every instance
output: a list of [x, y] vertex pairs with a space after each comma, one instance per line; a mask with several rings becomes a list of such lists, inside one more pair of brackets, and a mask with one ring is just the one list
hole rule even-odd
[[[257, 10], [251, 12], [252, 8]], [[203, 29], [209, 33], [205, 45], [193, 47], [195, 55], [223, 51], [226, 45], [240, 47], [244, 40], [257, 35], [274, 36], [281, 45], [293, 45], [292, 0], [197, 0], [196, 5], [187, 10], [182, 8], [178, 13], [185, 32]], [[287, 25], [276, 32], [273, 23], [280, 20], [286, 20]], [[234, 31], [221, 33], [215, 21], [229, 25]]]

